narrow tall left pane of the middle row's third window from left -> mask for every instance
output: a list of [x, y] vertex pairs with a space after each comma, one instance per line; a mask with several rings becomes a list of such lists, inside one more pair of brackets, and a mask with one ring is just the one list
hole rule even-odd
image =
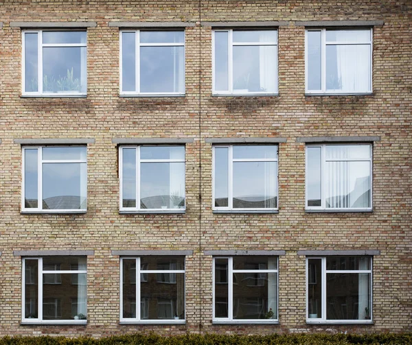
[[216, 147], [214, 150], [214, 204], [216, 207], [229, 206], [229, 148]]

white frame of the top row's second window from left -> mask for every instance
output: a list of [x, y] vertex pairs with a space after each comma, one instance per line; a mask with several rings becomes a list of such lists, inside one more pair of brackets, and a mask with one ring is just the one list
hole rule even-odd
[[[180, 31], [183, 32], [183, 43], [141, 43], [140, 42], [140, 32], [141, 31], [154, 31], [154, 32], [161, 32], [161, 31]], [[135, 34], [135, 88], [136, 91], [123, 91], [123, 55], [122, 55], [122, 47], [123, 47], [123, 34], [125, 32], [128, 33], [134, 33]], [[163, 29], [163, 30], [141, 30], [141, 29], [124, 29], [120, 30], [119, 32], [120, 38], [119, 38], [119, 47], [120, 47], [120, 52], [119, 52], [119, 70], [120, 70], [120, 85], [119, 85], [119, 94], [121, 96], [184, 96], [185, 95], [185, 83], [183, 85], [183, 91], [182, 92], [150, 92], [150, 93], [144, 93], [140, 91], [140, 47], [183, 47], [183, 60], [186, 62], [186, 49], [185, 49], [185, 41], [186, 41], [186, 35], [185, 35], [185, 30], [184, 29]], [[183, 64], [183, 79], [185, 80], [185, 75], [186, 75], [186, 63]]]

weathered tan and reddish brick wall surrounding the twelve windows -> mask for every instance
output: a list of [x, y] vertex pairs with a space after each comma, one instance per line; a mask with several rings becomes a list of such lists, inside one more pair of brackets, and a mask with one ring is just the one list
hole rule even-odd
[[[0, 335], [102, 336], [134, 331], [271, 333], [412, 330], [410, 1], [5, 1], [0, 6]], [[295, 21], [383, 20], [374, 28], [374, 94], [305, 97], [304, 27]], [[21, 29], [10, 21], [96, 21], [87, 29], [86, 99], [21, 97]], [[109, 21], [190, 21], [185, 97], [119, 97], [119, 29]], [[288, 21], [279, 27], [279, 96], [211, 96], [211, 28], [201, 21]], [[201, 49], [201, 50], [200, 50]], [[200, 74], [201, 73], [201, 74]], [[201, 87], [201, 88], [199, 88]], [[305, 213], [305, 147], [297, 136], [378, 135], [373, 213]], [[184, 215], [119, 215], [113, 137], [194, 138], [186, 145]], [[281, 136], [279, 214], [211, 212], [209, 137]], [[95, 138], [85, 215], [23, 215], [16, 138]], [[199, 198], [201, 195], [201, 198]], [[115, 249], [190, 249], [184, 326], [119, 325]], [[87, 326], [23, 326], [21, 258], [13, 250], [93, 249]], [[286, 250], [278, 326], [211, 324], [211, 257], [203, 250]], [[297, 250], [378, 249], [374, 325], [306, 324], [305, 258]]]

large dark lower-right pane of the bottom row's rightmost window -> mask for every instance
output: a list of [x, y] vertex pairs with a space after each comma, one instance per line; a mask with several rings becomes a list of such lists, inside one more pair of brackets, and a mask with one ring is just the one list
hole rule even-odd
[[371, 275], [326, 274], [326, 319], [370, 320]]

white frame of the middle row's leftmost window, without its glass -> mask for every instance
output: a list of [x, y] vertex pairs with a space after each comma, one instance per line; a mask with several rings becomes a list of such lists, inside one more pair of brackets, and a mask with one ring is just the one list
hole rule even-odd
[[[39, 145], [22, 147], [21, 164], [21, 213], [86, 213], [86, 209], [43, 209], [43, 163], [86, 163], [86, 190], [87, 190], [87, 153], [86, 158], [71, 160], [43, 160], [43, 147], [86, 147], [87, 145]], [[37, 150], [37, 208], [25, 207], [25, 150]]]

